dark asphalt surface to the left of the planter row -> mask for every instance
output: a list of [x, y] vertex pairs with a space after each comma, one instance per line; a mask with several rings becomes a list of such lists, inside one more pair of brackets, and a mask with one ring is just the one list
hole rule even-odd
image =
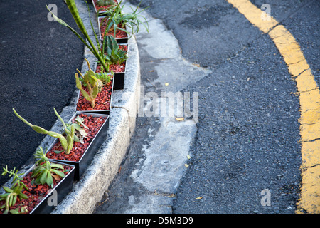
[[[17, 4], [18, 3], [18, 4]], [[83, 44], [56, 21], [46, 4], [77, 28], [63, 0], [1, 1], [0, 7], [0, 167], [21, 167], [46, 135], [16, 118], [12, 108], [34, 125], [50, 130], [70, 103], [74, 73], [81, 68]], [[0, 185], [7, 179], [0, 177]]]

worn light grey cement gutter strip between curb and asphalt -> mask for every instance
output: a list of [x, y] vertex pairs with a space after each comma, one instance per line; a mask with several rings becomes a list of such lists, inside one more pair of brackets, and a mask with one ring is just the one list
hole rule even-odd
[[[131, 10], [127, 6], [132, 5], [126, 2], [124, 12]], [[142, 16], [148, 21], [149, 33], [140, 26], [135, 35], [142, 66], [137, 125], [122, 170], [97, 206], [97, 214], [171, 213], [197, 131], [196, 120], [178, 115], [177, 105], [169, 101], [161, 104], [161, 93], [177, 95], [207, 76], [210, 70], [181, 56], [178, 41], [161, 20], [152, 18], [146, 11]], [[161, 114], [162, 110], [159, 113], [161, 108], [166, 108], [168, 115]]]

